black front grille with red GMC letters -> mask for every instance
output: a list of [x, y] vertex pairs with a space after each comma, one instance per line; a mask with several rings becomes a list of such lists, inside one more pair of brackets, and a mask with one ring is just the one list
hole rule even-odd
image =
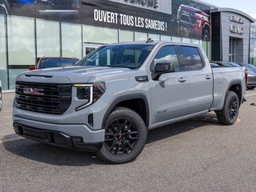
[[16, 103], [22, 110], [64, 114], [71, 104], [71, 96], [71, 85], [16, 82]]

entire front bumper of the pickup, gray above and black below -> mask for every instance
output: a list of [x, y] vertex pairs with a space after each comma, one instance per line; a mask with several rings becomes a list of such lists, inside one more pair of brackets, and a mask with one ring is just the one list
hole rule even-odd
[[[86, 124], [58, 124], [13, 116], [14, 130], [25, 138], [45, 142], [54, 146], [90, 150], [101, 148], [105, 138], [105, 130], [91, 130]], [[81, 138], [82, 142], [74, 142], [73, 138]], [[94, 147], [95, 146], [95, 147]]]

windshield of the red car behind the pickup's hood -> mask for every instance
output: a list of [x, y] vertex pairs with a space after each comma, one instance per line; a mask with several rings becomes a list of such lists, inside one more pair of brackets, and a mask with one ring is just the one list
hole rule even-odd
[[78, 62], [78, 59], [72, 58], [49, 58], [41, 63], [41, 69], [60, 67], [60, 66], [72, 66], [75, 62]]

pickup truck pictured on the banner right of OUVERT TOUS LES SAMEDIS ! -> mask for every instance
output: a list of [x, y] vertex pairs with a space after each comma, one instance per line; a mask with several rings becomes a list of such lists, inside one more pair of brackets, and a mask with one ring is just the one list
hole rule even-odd
[[192, 6], [178, 8], [178, 34], [185, 38], [210, 41], [210, 15]]

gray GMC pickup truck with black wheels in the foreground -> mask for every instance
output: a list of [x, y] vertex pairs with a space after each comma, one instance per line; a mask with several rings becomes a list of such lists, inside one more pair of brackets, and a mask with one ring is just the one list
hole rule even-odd
[[75, 66], [18, 75], [14, 130], [124, 163], [142, 152], [151, 129], [209, 111], [232, 125], [245, 92], [245, 69], [212, 69], [201, 46], [118, 43]]

